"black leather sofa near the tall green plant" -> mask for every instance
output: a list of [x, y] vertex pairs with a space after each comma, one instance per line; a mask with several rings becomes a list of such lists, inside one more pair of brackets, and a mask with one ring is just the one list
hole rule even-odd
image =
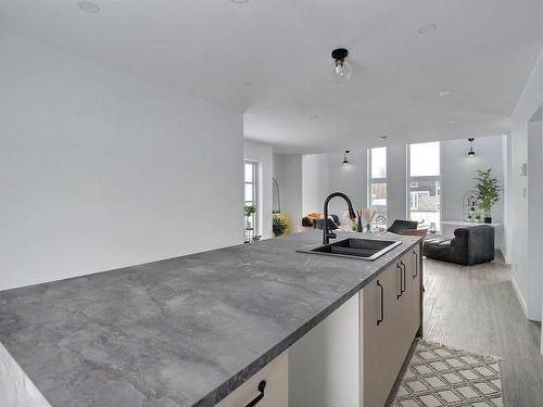
[[425, 256], [464, 266], [494, 259], [494, 228], [489, 225], [458, 228], [453, 239], [435, 238], [425, 241]]

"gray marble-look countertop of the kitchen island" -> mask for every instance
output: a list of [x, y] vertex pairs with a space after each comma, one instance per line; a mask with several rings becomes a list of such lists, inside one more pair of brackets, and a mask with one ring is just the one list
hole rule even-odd
[[53, 407], [213, 406], [419, 241], [393, 238], [375, 262], [296, 253], [308, 232], [3, 291], [0, 343]]

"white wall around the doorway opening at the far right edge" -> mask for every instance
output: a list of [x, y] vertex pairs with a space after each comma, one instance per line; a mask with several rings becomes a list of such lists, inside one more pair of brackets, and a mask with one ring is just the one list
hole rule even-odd
[[[543, 52], [528, 80], [522, 94], [512, 116], [512, 173], [510, 211], [507, 211], [507, 224], [512, 225], [513, 282], [517, 290], [520, 303], [529, 319], [541, 320], [541, 284], [538, 283], [541, 268], [531, 270], [529, 256], [538, 256], [541, 264], [541, 249], [529, 251], [528, 239], [528, 177], [521, 175], [522, 163], [528, 163], [528, 123], [543, 103]], [[528, 176], [530, 168], [528, 168]], [[541, 247], [541, 244], [540, 244]]]

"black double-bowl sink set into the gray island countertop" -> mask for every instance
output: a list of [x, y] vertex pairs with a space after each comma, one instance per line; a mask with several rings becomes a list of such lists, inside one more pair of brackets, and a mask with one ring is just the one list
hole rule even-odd
[[402, 242], [393, 240], [349, 238], [315, 249], [299, 250], [296, 252], [375, 260], [400, 244]]

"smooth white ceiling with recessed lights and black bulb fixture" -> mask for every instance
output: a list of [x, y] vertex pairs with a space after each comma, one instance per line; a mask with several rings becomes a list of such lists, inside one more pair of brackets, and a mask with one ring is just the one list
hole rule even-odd
[[0, 0], [0, 26], [243, 112], [245, 137], [290, 153], [507, 132], [543, 46], [541, 0], [96, 2]]

